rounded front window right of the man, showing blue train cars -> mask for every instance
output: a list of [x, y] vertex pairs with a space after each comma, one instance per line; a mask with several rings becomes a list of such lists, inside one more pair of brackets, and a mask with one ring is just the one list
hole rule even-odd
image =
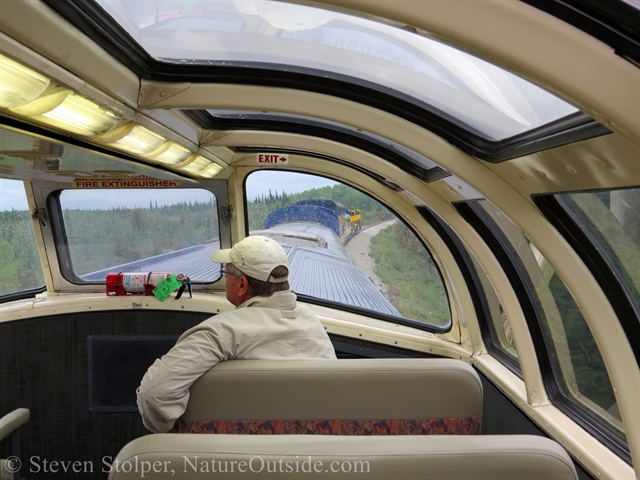
[[254, 172], [246, 181], [251, 235], [284, 247], [291, 288], [385, 316], [451, 324], [440, 272], [392, 212], [341, 183], [293, 172]]

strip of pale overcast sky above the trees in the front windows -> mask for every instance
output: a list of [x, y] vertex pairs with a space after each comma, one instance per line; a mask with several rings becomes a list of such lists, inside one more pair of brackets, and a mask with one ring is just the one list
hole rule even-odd
[[[294, 172], [261, 171], [247, 179], [247, 196], [250, 200], [260, 195], [268, 195], [269, 190], [275, 194], [297, 193], [336, 185], [337, 182], [313, 175]], [[126, 192], [126, 193], [123, 193]], [[72, 190], [62, 196], [65, 208], [109, 209], [118, 206], [147, 207], [149, 201], [158, 206], [183, 201], [208, 202], [210, 193], [202, 190]], [[19, 180], [0, 179], [0, 211], [28, 210], [24, 185]]]

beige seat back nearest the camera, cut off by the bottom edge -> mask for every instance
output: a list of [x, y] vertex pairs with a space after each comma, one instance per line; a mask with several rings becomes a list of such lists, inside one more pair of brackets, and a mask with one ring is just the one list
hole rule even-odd
[[[174, 478], [577, 480], [556, 442], [529, 435], [174, 435], [140, 437], [109, 480]], [[256, 476], [256, 474], [258, 474]], [[248, 477], [249, 476], [249, 477]]]

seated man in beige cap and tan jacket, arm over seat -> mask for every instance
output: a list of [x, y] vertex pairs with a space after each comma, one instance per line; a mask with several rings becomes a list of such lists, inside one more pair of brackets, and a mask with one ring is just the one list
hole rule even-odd
[[149, 368], [137, 393], [152, 432], [171, 430], [187, 407], [189, 387], [218, 362], [336, 358], [318, 317], [289, 290], [289, 262], [276, 241], [247, 237], [211, 260], [225, 265], [227, 299], [236, 309], [187, 330]]

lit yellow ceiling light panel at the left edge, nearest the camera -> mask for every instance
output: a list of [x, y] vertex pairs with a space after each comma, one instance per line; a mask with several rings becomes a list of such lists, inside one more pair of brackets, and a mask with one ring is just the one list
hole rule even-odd
[[51, 80], [0, 54], [0, 108], [14, 108], [37, 98]]

